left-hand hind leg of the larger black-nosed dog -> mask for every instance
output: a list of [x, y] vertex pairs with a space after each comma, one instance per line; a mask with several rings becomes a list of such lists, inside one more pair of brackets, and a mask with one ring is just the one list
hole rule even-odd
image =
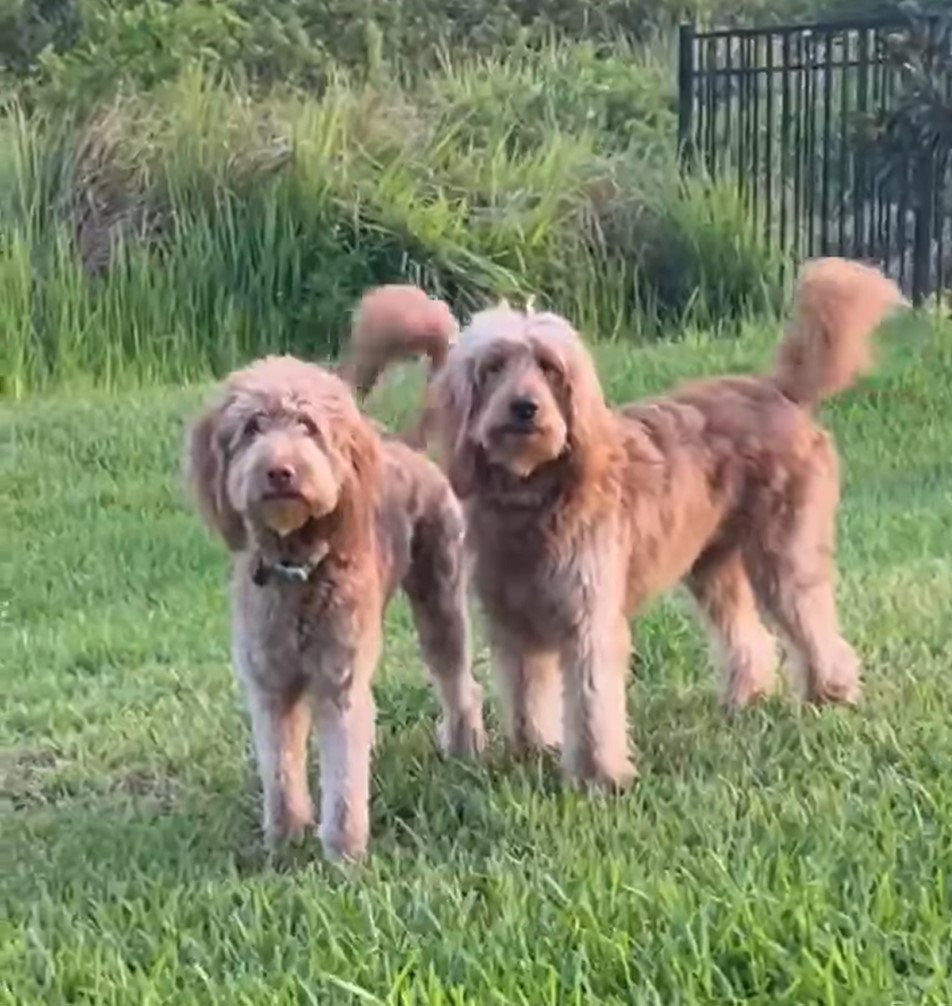
[[730, 711], [772, 691], [777, 648], [757, 610], [740, 551], [702, 558], [687, 588], [710, 625], [724, 665], [724, 704]]

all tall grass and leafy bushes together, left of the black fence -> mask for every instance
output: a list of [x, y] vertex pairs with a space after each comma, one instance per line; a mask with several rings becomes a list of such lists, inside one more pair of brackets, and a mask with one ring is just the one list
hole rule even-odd
[[603, 337], [772, 304], [738, 200], [679, 181], [665, 26], [815, 7], [8, 0], [4, 390], [332, 352], [401, 278]]

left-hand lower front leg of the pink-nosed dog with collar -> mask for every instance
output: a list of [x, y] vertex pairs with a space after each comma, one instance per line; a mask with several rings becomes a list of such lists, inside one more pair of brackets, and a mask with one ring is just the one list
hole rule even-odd
[[248, 700], [264, 791], [265, 836], [275, 844], [314, 823], [307, 782], [311, 710], [304, 694], [279, 696], [254, 686]]

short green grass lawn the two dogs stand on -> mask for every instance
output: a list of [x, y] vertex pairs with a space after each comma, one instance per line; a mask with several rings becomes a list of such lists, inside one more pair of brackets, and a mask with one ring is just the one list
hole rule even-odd
[[[226, 560], [179, 483], [201, 389], [5, 406], [0, 1002], [952, 1001], [952, 331], [889, 345], [825, 410], [860, 710], [728, 721], [675, 596], [638, 630], [641, 781], [588, 800], [506, 760], [491, 695], [484, 764], [440, 760], [398, 605], [351, 872], [263, 848]], [[600, 364], [621, 399], [765, 352]], [[409, 401], [391, 383], [377, 408]]]

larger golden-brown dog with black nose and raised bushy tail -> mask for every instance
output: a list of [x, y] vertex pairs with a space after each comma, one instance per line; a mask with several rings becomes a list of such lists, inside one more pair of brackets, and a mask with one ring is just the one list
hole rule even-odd
[[627, 616], [681, 579], [722, 651], [729, 707], [772, 684], [759, 609], [809, 701], [856, 699], [833, 597], [836, 454], [811, 412], [863, 369], [868, 335], [901, 302], [875, 270], [812, 262], [772, 373], [619, 410], [563, 318], [472, 319], [434, 390], [517, 746], [562, 746], [587, 783], [632, 779]]

